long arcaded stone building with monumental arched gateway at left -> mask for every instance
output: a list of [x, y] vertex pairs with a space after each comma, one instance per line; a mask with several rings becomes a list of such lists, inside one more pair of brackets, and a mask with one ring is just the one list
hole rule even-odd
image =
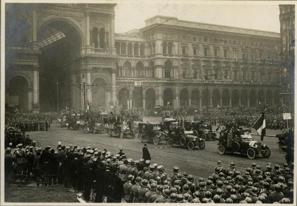
[[280, 66], [260, 61], [280, 34], [168, 16], [117, 34], [114, 6], [6, 3], [5, 106], [83, 108], [82, 80], [94, 107], [280, 104]]

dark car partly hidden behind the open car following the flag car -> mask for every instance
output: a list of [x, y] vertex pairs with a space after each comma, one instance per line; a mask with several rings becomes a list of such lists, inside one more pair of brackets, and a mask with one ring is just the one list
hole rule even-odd
[[205, 140], [215, 140], [217, 136], [216, 132], [209, 129], [209, 125], [203, 122], [197, 121], [185, 121], [184, 128], [186, 131], [193, 130], [196, 136], [200, 136], [204, 141]]

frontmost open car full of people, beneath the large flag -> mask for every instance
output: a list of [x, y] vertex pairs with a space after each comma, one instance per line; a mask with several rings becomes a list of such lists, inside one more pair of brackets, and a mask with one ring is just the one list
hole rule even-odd
[[222, 132], [218, 143], [219, 154], [223, 155], [228, 152], [247, 154], [249, 159], [254, 159], [260, 155], [262, 155], [264, 158], [269, 158], [271, 154], [270, 148], [261, 142], [253, 140], [249, 132], [250, 131], [243, 130], [242, 128], [236, 129], [235, 132], [233, 132], [231, 147], [227, 147], [227, 132]]

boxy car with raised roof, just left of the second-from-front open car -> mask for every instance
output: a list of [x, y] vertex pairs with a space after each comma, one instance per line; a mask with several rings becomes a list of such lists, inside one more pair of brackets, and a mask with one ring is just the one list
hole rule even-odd
[[153, 142], [154, 145], [158, 145], [159, 142], [166, 140], [166, 135], [161, 130], [160, 123], [138, 123], [138, 141]]

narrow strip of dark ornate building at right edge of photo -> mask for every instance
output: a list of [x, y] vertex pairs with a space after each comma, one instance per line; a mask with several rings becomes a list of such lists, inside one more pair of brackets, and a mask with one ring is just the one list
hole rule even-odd
[[281, 25], [281, 51], [283, 65], [281, 99], [283, 105], [294, 105], [295, 73], [295, 5], [279, 5]]

